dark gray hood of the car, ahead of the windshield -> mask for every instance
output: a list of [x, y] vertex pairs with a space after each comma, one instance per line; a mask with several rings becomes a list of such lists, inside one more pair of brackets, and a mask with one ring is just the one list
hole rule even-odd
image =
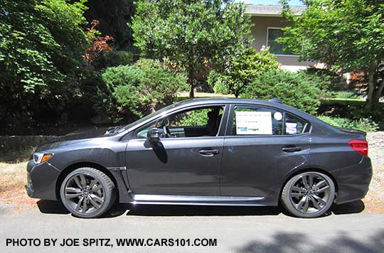
[[67, 146], [70, 144], [77, 144], [83, 141], [89, 141], [90, 139], [105, 136], [106, 131], [111, 129], [110, 127], [102, 127], [99, 129], [88, 129], [85, 131], [75, 131], [65, 136], [60, 136], [53, 139], [46, 144], [42, 144], [36, 148], [36, 152], [45, 151], [49, 149], [57, 149], [61, 146]]

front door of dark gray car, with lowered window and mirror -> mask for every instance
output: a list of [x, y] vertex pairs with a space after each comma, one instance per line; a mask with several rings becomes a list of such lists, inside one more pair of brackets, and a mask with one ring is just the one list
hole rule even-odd
[[[222, 108], [222, 113], [225, 110], [223, 104], [214, 106]], [[225, 131], [220, 122], [226, 121], [220, 120], [215, 136], [205, 136], [201, 130], [207, 120], [204, 110], [207, 107], [181, 109], [136, 131], [127, 144], [126, 155], [129, 185], [134, 193], [219, 195]], [[189, 118], [180, 116], [187, 112], [193, 112]], [[151, 145], [146, 132], [155, 126], [164, 129], [159, 122], [169, 122], [170, 118], [176, 118], [179, 124], [167, 126], [169, 136], [163, 132], [159, 144]]]

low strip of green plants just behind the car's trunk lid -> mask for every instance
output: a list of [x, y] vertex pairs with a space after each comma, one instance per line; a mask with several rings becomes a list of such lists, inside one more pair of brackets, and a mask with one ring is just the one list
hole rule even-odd
[[361, 131], [377, 131], [378, 124], [373, 122], [372, 119], [361, 118], [361, 119], [347, 119], [341, 117], [329, 117], [329, 116], [319, 116], [319, 119], [322, 121], [338, 127], [348, 127], [352, 129], [358, 129]]

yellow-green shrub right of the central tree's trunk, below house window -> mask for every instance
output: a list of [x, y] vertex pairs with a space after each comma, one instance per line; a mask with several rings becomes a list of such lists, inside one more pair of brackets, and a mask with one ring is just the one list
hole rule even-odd
[[256, 52], [251, 47], [239, 50], [228, 63], [227, 68], [221, 72], [210, 72], [208, 83], [213, 90], [231, 93], [235, 97], [263, 72], [279, 68], [279, 63], [272, 53], [268, 50]]

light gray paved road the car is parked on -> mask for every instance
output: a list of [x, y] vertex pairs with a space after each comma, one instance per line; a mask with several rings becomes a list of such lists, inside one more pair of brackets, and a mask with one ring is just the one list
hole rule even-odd
[[[357, 205], [361, 208], [363, 203]], [[384, 215], [334, 209], [298, 219], [278, 208], [118, 205], [101, 219], [82, 220], [56, 203], [15, 214], [0, 205], [0, 252], [384, 252]], [[346, 211], [347, 210], [347, 211]], [[217, 247], [118, 247], [116, 238], [217, 239]], [[6, 239], [80, 239], [79, 247], [10, 247]], [[85, 247], [82, 239], [111, 239], [113, 247]]]

